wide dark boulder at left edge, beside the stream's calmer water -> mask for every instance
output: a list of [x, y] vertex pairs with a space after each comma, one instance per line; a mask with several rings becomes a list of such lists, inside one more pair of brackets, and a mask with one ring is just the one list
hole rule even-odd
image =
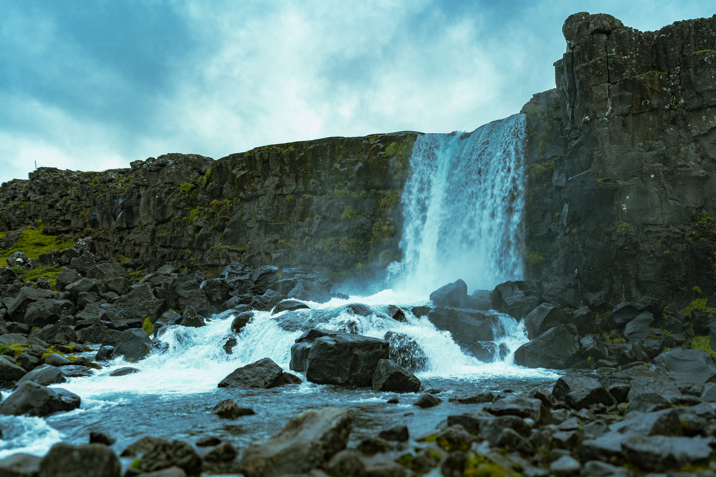
[[0, 414], [46, 416], [77, 409], [79, 403], [79, 396], [68, 390], [26, 381], [0, 403]]

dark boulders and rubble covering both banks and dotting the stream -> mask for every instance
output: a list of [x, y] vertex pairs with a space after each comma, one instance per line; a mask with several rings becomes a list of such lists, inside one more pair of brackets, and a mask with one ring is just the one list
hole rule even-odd
[[[329, 281], [307, 269], [251, 269], [233, 263], [213, 279], [171, 267], [132, 276], [120, 264], [97, 263], [91, 240], [49, 254], [73, 256], [76, 267], [57, 274], [57, 292], [34, 287], [38, 283], [28, 286], [18, 278], [1, 285], [0, 377], [6, 389], [16, 385], [0, 403], [3, 414], [42, 416], [78, 408], [80, 396], [47, 386], [89, 375], [112, 355], [132, 362], [162, 352], [157, 337], [170, 326], [201, 327], [212, 314], [228, 312], [235, 318], [223, 348], [233, 352], [236, 336], [251, 322], [252, 310], [273, 309], [286, 315], [304, 310], [306, 301], [331, 298]], [[49, 259], [42, 256], [41, 261]], [[12, 260], [33, 266], [21, 254]], [[5, 277], [14, 273], [8, 268], [0, 271]], [[42, 286], [43, 281], [38, 282]], [[267, 358], [238, 368], [218, 383], [269, 388], [309, 380], [409, 393], [394, 403], [407, 399], [419, 407], [440, 406], [443, 395], [465, 405], [469, 412], [445, 415], [433, 435], [406, 436], [407, 428], [384, 429], [346, 448], [349, 413], [323, 409], [296, 416], [274, 438], [246, 449], [211, 436], [198, 441], [212, 443], [201, 451], [182, 441], [142, 438], [122, 451], [134, 463], [127, 467], [124, 459], [122, 470], [118, 457], [105, 447], [112, 439], [94, 435], [91, 440], [97, 443], [57, 444], [44, 458], [11, 456], [0, 461], [0, 469], [27, 476], [78, 470], [93, 475], [89, 469], [101, 461], [101, 468], [110, 473], [97, 475], [112, 476], [195, 475], [202, 468], [207, 473], [228, 469], [247, 476], [402, 476], [434, 470], [442, 475], [712, 475], [716, 361], [707, 352], [688, 347], [694, 333], [705, 332], [703, 337], [710, 339], [716, 324], [710, 299], [685, 309], [688, 315], [669, 316], [668, 307], [649, 297], [597, 315], [586, 307], [565, 309], [543, 302], [540, 285], [512, 281], [468, 295], [466, 284], [458, 280], [431, 294], [432, 307], [390, 307], [382, 319], [425, 316], [458, 342], [463, 340], [470, 354], [491, 361], [500, 359], [500, 350], [490, 341], [495, 314], [524, 317], [531, 341], [515, 351], [516, 364], [585, 370], [564, 375], [553, 387], [464, 396], [449, 390], [421, 391], [412, 374], [425, 365], [417, 344], [393, 335], [363, 337], [349, 325], [341, 332], [311, 329], [296, 339], [290, 367], [304, 377], [281, 370]], [[372, 313], [349, 300], [345, 308], [357, 316]], [[90, 345], [101, 345], [95, 360], [74, 358], [74, 352], [87, 352]], [[126, 367], [117, 374], [134, 371]], [[240, 419], [253, 410], [226, 400], [213, 412]]]

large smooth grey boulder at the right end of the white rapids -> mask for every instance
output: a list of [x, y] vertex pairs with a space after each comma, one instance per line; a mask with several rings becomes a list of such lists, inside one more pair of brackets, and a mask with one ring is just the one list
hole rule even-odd
[[563, 370], [579, 360], [579, 342], [571, 325], [560, 324], [515, 351], [515, 364]]

